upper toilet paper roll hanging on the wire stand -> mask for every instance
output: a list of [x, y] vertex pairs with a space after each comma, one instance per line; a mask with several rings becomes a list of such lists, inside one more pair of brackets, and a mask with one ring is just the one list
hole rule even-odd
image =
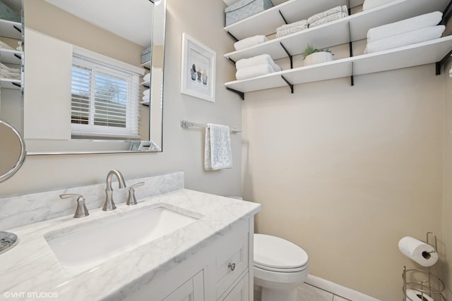
[[438, 253], [434, 247], [410, 236], [402, 238], [398, 242], [398, 248], [402, 254], [421, 266], [432, 266], [438, 261]]

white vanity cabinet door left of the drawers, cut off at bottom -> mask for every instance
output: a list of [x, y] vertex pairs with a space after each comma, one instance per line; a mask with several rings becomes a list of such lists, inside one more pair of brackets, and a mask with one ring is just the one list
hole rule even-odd
[[203, 271], [182, 284], [163, 299], [163, 301], [204, 301]]

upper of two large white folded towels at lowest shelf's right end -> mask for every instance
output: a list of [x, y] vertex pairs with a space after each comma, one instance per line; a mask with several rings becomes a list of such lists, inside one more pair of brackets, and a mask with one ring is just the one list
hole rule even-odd
[[404, 32], [438, 25], [439, 22], [441, 22], [441, 18], [443, 18], [443, 13], [440, 11], [434, 11], [433, 13], [426, 13], [421, 16], [371, 28], [367, 32], [367, 43], [384, 39], [386, 37], [392, 37], [393, 35], [400, 35]]

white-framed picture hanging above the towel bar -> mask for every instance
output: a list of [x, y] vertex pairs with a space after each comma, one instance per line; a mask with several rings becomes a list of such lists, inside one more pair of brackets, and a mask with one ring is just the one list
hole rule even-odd
[[216, 53], [182, 34], [181, 93], [215, 102]]

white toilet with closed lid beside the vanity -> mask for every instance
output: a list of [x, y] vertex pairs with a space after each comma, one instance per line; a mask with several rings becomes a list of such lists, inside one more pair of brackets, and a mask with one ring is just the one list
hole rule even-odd
[[261, 301], [296, 301], [308, 266], [308, 254], [301, 247], [283, 238], [254, 234], [254, 284], [262, 288]]

